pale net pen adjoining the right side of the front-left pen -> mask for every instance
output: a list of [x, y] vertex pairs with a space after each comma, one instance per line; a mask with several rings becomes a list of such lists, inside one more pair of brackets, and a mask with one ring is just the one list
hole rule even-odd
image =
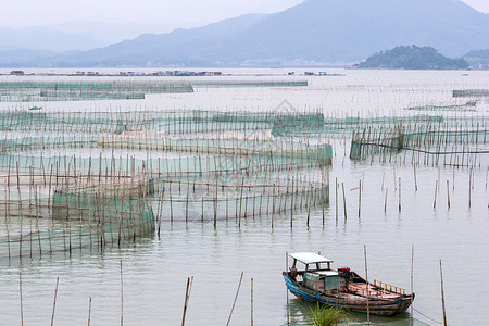
[[170, 221], [222, 221], [322, 208], [329, 185], [297, 178], [249, 174], [213, 177], [178, 176], [153, 179], [159, 216]]

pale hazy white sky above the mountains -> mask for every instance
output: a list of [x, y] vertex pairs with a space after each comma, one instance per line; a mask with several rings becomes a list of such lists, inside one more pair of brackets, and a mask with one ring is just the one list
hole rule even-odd
[[[51, 25], [71, 21], [159, 23], [198, 26], [243, 13], [285, 10], [303, 0], [0, 0], [0, 27]], [[394, 0], [393, 0], [394, 1]], [[489, 13], [489, 0], [463, 0]]]

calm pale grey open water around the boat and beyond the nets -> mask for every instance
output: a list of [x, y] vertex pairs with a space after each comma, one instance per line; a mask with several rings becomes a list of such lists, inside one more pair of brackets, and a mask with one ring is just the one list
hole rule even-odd
[[[193, 95], [151, 97], [145, 102], [49, 103], [47, 109], [124, 108], [249, 109], [277, 106], [287, 99], [304, 108], [323, 109], [329, 114], [347, 115], [362, 111], [366, 115], [403, 114], [402, 108], [425, 101], [448, 102], [450, 89], [489, 88], [488, 73], [463, 77], [461, 72], [347, 72], [346, 77], [311, 78], [305, 89], [201, 89]], [[251, 77], [247, 77], [251, 78]], [[253, 77], [256, 78], [256, 77]], [[278, 78], [278, 77], [276, 77]], [[298, 77], [299, 78], [299, 77]], [[484, 103], [482, 103], [484, 104]], [[2, 104], [7, 106], [7, 104]], [[195, 106], [198, 105], [198, 106]], [[272, 105], [272, 106], [271, 106]], [[310, 105], [310, 106], [308, 106]], [[383, 113], [384, 112], [384, 113]], [[459, 113], [460, 114], [460, 113]], [[471, 113], [474, 114], [474, 113]], [[487, 115], [480, 106], [479, 115]], [[334, 141], [336, 156], [329, 173], [330, 204], [323, 224], [322, 210], [248, 217], [212, 224], [185, 224], [165, 220], [161, 238], [153, 236], [106, 248], [103, 252], [83, 250], [72, 255], [58, 253], [41, 259], [0, 261], [1, 325], [20, 325], [22, 275], [24, 325], [46, 325], [51, 321], [54, 288], [59, 277], [55, 325], [83, 325], [88, 322], [89, 298], [92, 325], [118, 325], [121, 322], [121, 262], [124, 284], [125, 325], [179, 325], [184, 310], [187, 278], [193, 284], [187, 311], [187, 325], [225, 325], [243, 280], [231, 316], [231, 325], [247, 325], [251, 314], [253, 278], [254, 324], [286, 325], [287, 293], [281, 278], [286, 252], [321, 251], [335, 261], [335, 267], [349, 266], [365, 274], [364, 244], [367, 249], [369, 279], [411, 288], [411, 255], [414, 246], [414, 317], [416, 323], [437, 325], [442, 321], [440, 260], [443, 265], [444, 294], [450, 325], [485, 325], [489, 312], [489, 211], [487, 168], [482, 156], [476, 167], [468, 208], [467, 167], [419, 166], [414, 172], [403, 155], [397, 163], [351, 162], [347, 149]], [[408, 160], [409, 161], [409, 160]], [[334, 191], [338, 179], [338, 218]], [[402, 179], [399, 211], [398, 179]], [[359, 180], [363, 192], [359, 217]], [[434, 209], [435, 185], [437, 206]], [[448, 208], [446, 181], [450, 181]], [[453, 189], [454, 180], [454, 189]], [[342, 209], [344, 184], [347, 218]], [[388, 189], [388, 190], [387, 190]], [[387, 191], [387, 212], [384, 212]], [[289, 296], [290, 319], [304, 325], [311, 305]], [[409, 325], [411, 315], [376, 317], [378, 325]], [[352, 314], [347, 324], [362, 324], [366, 316]]]

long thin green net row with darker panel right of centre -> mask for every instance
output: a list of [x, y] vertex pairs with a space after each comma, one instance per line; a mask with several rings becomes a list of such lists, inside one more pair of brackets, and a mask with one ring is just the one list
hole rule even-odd
[[[27, 112], [27, 113], [25, 113]], [[179, 110], [174, 112], [54, 112], [10, 111], [0, 115], [0, 128], [42, 133], [90, 134], [149, 131], [166, 135], [213, 134], [239, 131], [246, 137], [267, 134], [277, 137], [341, 137], [367, 127], [423, 126], [442, 124], [447, 118], [437, 115], [405, 117], [325, 117], [321, 113], [268, 112], [247, 113]]]

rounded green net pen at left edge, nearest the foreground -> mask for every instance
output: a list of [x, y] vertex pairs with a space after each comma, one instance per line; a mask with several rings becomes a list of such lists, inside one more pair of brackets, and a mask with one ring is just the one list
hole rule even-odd
[[[103, 249], [154, 234], [148, 183], [62, 188], [52, 198], [0, 202], [0, 258]], [[20, 223], [17, 223], [20, 222]]]

